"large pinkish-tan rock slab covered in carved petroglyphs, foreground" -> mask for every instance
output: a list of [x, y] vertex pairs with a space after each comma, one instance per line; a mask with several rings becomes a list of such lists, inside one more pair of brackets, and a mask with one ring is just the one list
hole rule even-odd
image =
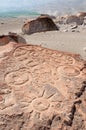
[[0, 47], [0, 130], [85, 129], [85, 61], [40, 46]]

